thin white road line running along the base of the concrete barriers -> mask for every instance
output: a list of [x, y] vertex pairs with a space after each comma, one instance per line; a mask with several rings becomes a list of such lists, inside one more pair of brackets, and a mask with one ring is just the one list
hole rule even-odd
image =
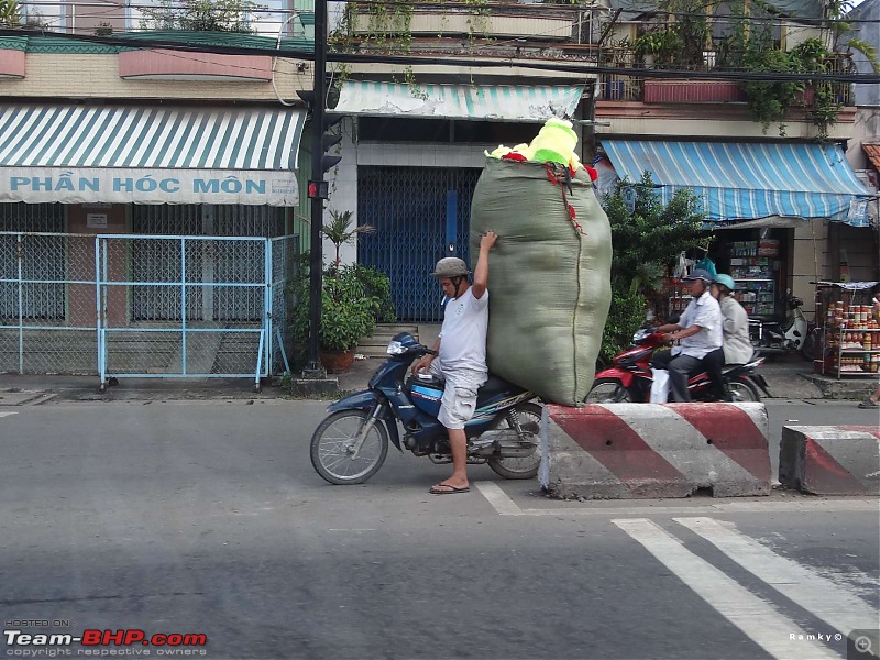
[[[650, 506], [648, 501], [642, 506], [618, 506], [607, 499], [584, 502], [579, 508], [560, 506], [547, 509], [520, 508], [495, 482], [474, 482], [488, 503], [501, 516], [649, 516], [649, 515], [695, 515], [695, 514], [760, 514], [774, 513], [837, 513], [837, 512], [872, 512], [880, 513], [877, 499], [814, 499], [804, 498], [799, 502], [763, 501], [717, 501], [712, 504], [692, 504], [681, 506]], [[689, 502], [689, 501], [683, 501]], [[690, 502], [694, 502], [691, 499]], [[562, 503], [560, 503], [562, 504]], [[571, 503], [568, 503], [571, 504]]]

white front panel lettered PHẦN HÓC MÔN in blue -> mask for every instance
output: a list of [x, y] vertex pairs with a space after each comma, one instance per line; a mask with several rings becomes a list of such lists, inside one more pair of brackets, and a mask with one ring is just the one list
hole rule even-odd
[[0, 201], [295, 206], [294, 172], [8, 167]]

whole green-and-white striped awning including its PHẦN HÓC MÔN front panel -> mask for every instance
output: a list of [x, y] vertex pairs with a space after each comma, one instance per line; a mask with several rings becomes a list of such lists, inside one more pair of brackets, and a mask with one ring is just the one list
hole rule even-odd
[[293, 206], [305, 114], [6, 106], [0, 201]]

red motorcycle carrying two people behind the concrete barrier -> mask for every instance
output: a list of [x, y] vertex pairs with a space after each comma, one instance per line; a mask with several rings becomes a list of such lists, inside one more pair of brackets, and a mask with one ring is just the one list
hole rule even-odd
[[[652, 328], [641, 328], [632, 336], [632, 345], [615, 355], [610, 369], [596, 374], [593, 388], [584, 399], [587, 404], [634, 403], [647, 404], [651, 397], [653, 374], [651, 358], [663, 346], [663, 336]], [[763, 358], [752, 358], [747, 364], [724, 367], [724, 380], [734, 403], [760, 402], [758, 388], [772, 398], [767, 381], [756, 373]], [[716, 402], [715, 384], [703, 371], [688, 382], [693, 402]]]

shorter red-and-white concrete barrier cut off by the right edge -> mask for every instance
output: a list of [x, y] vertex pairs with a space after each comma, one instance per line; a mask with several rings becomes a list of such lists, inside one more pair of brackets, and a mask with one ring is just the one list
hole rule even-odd
[[880, 428], [782, 427], [779, 481], [815, 495], [880, 495]]

